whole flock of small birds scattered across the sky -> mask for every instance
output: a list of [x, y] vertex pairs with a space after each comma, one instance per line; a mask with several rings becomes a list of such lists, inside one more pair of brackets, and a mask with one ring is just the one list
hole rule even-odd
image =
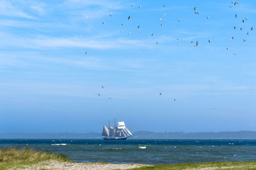
[[[236, 1], [236, 2], [233, 2], [233, 1], [232, 1], [231, 4], [233, 4], [233, 6], [230, 6], [230, 8], [233, 8], [234, 6], [236, 6], [237, 4], [239, 4], [239, 2], [237, 2], [237, 1]], [[134, 6], [134, 4], [131, 4], [131, 7], [133, 7], [133, 6]], [[165, 8], [166, 5], [163, 5], [163, 7]], [[141, 5], [138, 6], [138, 8], [142, 8]], [[197, 9], [196, 7], [194, 7], [193, 10], [194, 10], [194, 12], [195, 12], [196, 15], [199, 15], [199, 14], [200, 14], [200, 11], [198, 11], [198, 9]], [[163, 15], [166, 15], [166, 13], [163, 13]], [[113, 16], [113, 13], [109, 13], [109, 17], [112, 17], [112, 16]], [[238, 15], [236, 14], [235, 17], [237, 18]], [[86, 20], [87, 20], [89, 17], [86, 16], [85, 18], [86, 18]], [[127, 17], [128, 20], [131, 20], [131, 18], [132, 18], [131, 15], [129, 15], [129, 16]], [[207, 18], [207, 20], [209, 20], [210, 17], [207, 16], [206, 18]], [[162, 21], [162, 20], [163, 20], [163, 18], [162, 18], [162, 17], [159, 17], [159, 21]], [[243, 24], [244, 24], [247, 20], [248, 20], [248, 17], [244, 17], [241, 22], [243, 22]], [[178, 22], [181, 22], [181, 19], [180, 19], [180, 18], [178, 19]], [[105, 24], [105, 22], [103, 21], [103, 22], [102, 22], [102, 25], [104, 25], [104, 24]], [[124, 25], [124, 22], [122, 22], [121, 25], [123, 26], [123, 25]], [[160, 25], [163, 26], [163, 23], [161, 23]], [[138, 25], [138, 29], [140, 29], [140, 27], [141, 27], [141, 26]], [[236, 30], [236, 26], [234, 26], [234, 29]], [[240, 30], [243, 31], [243, 27], [241, 27]], [[253, 31], [253, 27], [251, 27], [250, 31]], [[124, 32], [124, 31], [121, 30], [120, 32]], [[141, 31], [139, 31], [139, 33], [141, 33]], [[131, 31], [129, 31], [128, 34], [130, 35], [130, 34], [131, 34]], [[248, 32], [246, 32], [246, 34], [249, 35], [250, 32], [248, 31]], [[151, 36], [154, 36], [154, 32], [151, 34]], [[179, 41], [179, 40], [180, 40], [180, 41], [183, 41], [182, 38], [180, 38], [180, 39], [177, 38], [177, 41]], [[234, 40], [234, 36], [232, 36], [232, 38], [230, 38], [230, 41], [232, 41], [232, 40]], [[243, 38], [242, 42], [244, 43], [245, 41], [246, 41], [246, 39]], [[208, 42], [211, 43], [211, 39], [210, 39], [210, 38], [208, 39]], [[190, 43], [194, 44], [194, 46], [197, 47], [199, 41], [198, 41], [198, 40], [196, 40], [196, 41], [190, 41]], [[156, 44], [158, 45], [158, 44], [159, 44], [159, 41], [156, 41]], [[179, 44], [178, 44], [178, 46], [179, 46]], [[226, 47], [226, 50], [229, 50], [229, 47]], [[233, 53], [234, 53], [234, 55], [236, 55], [236, 52], [233, 52]], [[85, 52], [85, 55], [87, 55], [87, 52]], [[101, 88], [104, 89], [104, 86], [101, 86]], [[98, 96], [100, 97], [100, 93], [98, 94]], [[159, 93], [159, 96], [162, 96], [162, 92]], [[111, 99], [111, 97], [109, 97], [108, 99]], [[176, 101], [176, 99], [173, 99], [173, 101]]]

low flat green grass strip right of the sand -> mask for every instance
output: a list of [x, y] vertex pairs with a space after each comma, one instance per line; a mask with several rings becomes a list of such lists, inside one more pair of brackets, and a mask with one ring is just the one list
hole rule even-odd
[[170, 169], [256, 169], [256, 161], [252, 162], [211, 162], [211, 163], [198, 163], [198, 164], [172, 164], [172, 165], [159, 165], [150, 167], [139, 167], [133, 170], [170, 170]]

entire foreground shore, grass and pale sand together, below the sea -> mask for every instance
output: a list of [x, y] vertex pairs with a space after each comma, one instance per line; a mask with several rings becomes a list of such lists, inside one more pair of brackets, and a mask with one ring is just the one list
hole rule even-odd
[[[135, 167], [135, 168], [134, 168]], [[198, 164], [171, 164], [148, 166], [143, 164], [76, 163], [65, 155], [31, 148], [4, 148], [0, 150], [0, 169], [256, 169], [251, 162], [211, 162]]]

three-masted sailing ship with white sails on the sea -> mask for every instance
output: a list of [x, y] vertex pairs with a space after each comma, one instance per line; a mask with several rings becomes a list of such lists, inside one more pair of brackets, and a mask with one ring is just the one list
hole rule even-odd
[[132, 136], [132, 133], [125, 127], [124, 122], [118, 122], [117, 124], [116, 126], [115, 121], [115, 126], [112, 127], [108, 121], [108, 127], [104, 125], [102, 131], [102, 138], [104, 140], [126, 140]]

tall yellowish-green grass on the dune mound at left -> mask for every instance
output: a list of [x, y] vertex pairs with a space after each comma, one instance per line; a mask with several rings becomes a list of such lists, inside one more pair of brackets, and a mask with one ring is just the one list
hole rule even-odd
[[45, 160], [70, 161], [62, 154], [33, 150], [30, 148], [4, 148], [0, 150], [0, 169], [16, 169]]

